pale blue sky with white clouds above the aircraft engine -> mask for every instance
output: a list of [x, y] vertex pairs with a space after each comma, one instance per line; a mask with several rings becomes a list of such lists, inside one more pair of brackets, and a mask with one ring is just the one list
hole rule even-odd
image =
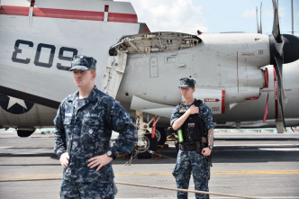
[[[262, 3], [263, 33], [271, 34], [272, 0], [122, 0], [133, 5], [151, 32], [257, 32]], [[299, 36], [299, 0], [294, 4], [294, 35]], [[279, 1], [280, 31], [291, 34], [291, 0]]]

